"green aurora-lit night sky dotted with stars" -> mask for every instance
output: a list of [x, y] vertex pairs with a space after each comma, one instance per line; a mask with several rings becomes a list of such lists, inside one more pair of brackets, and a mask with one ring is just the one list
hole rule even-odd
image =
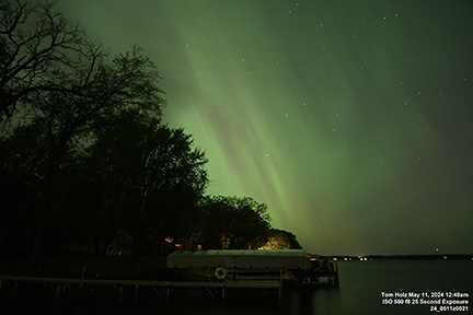
[[473, 2], [59, 0], [145, 49], [209, 195], [321, 255], [473, 253]]

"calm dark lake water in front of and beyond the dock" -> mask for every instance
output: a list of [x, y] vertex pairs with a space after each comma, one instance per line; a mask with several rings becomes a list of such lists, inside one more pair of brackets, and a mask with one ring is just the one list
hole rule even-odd
[[[117, 303], [118, 294], [113, 291], [80, 299], [64, 296], [55, 302], [49, 287], [26, 293], [27, 288], [20, 285], [14, 298], [4, 294], [7, 290], [3, 288], [1, 304], [2, 311], [7, 312], [1, 314], [432, 314], [429, 305], [383, 305], [381, 292], [473, 294], [471, 260], [339, 261], [338, 269], [339, 288], [321, 284], [313, 289], [286, 290], [281, 301], [275, 290], [266, 293], [261, 290], [228, 290], [222, 301], [212, 299], [205, 289], [174, 289], [170, 299], [158, 299], [147, 288], [140, 289], [135, 300], [134, 290], [129, 288], [124, 292], [122, 304]], [[165, 296], [164, 291], [159, 293]], [[470, 302], [473, 299], [461, 300]]]

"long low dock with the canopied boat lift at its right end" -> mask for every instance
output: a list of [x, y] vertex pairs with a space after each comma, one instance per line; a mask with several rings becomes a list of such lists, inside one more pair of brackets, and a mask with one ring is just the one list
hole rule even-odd
[[[122, 302], [124, 288], [128, 292], [131, 288], [135, 298], [138, 298], [139, 288], [150, 287], [159, 298], [161, 294], [169, 298], [175, 288], [205, 288], [214, 299], [219, 291], [224, 299], [228, 289], [277, 290], [282, 299], [284, 288], [318, 285], [320, 278], [326, 278], [328, 284], [339, 285], [337, 265], [328, 259], [311, 258], [304, 250], [187, 250], [174, 252], [166, 260], [168, 268], [194, 281], [168, 281], [178, 279], [173, 277], [164, 277], [166, 280], [86, 279], [84, 267], [80, 278], [0, 276], [0, 291], [9, 290], [14, 294], [21, 282], [45, 283], [56, 298], [109, 290], [116, 291]], [[234, 267], [224, 268], [224, 265]]]

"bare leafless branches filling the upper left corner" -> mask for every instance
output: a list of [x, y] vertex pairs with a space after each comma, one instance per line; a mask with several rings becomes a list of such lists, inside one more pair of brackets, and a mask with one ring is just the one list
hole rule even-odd
[[88, 89], [92, 73], [76, 86], [64, 86], [55, 77], [73, 74], [84, 60], [97, 62], [104, 51], [69, 23], [54, 2], [2, 1], [0, 21], [0, 113], [11, 114], [33, 92]]

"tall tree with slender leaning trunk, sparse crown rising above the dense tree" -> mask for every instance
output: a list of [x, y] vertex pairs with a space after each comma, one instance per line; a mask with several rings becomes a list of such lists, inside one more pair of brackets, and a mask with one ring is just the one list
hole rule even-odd
[[[91, 130], [112, 121], [114, 115], [124, 108], [146, 110], [149, 115], [159, 116], [164, 101], [158, 88], [159, 72], [155, 66], [135, 47], [131, 52], [118, 55], [112, 62], [89, 63], [89, 71], [78, 69], [77, 75], [70, 79], [58, 77], [62, 85], [71, 86], [77, 81], [93, 82], [83, 93], [58, 91], [35, 92], [28, 97], [32, 110], [25, 112], [25, 118], [36, 125], [49, 142], [48, 162], [45, 173], [45, 198], [39, 214], [38, 233], [32, 260], [35, 262], [45, 213], [53, 202], [57, 172], [62, 158], [74, 141], [88, 138]], [[93, 69], [95, 68], [96, 69]], [[84, 79], [84, 75], [93, 78]], [[69, 90], [69, 89], [68, 89]]]

